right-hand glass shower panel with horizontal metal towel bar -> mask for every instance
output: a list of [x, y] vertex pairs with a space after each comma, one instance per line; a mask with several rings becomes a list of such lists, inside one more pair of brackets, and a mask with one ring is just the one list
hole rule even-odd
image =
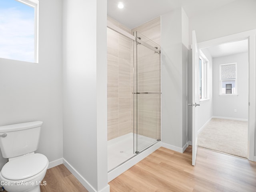
[[160, 140], [160, 46], [137, 32], [134, 52], [134, 153], [138, 153]]

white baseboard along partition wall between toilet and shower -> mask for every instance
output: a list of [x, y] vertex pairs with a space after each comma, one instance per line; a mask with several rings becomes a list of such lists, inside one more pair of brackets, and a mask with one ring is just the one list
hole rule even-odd
[[[96, 189], [93, 188], [93, 186], [82, 176], [80, 173], [72, 167], [64, 158], [63, 158], [63, 164], [66, 166], [66, 168], [76, 177], [76, 179], [89, 191], [89, 192], [97, 192]], [[110, 187], [107, 185], [105, 188], [100, 190], [99, 192], [109, 192]]]

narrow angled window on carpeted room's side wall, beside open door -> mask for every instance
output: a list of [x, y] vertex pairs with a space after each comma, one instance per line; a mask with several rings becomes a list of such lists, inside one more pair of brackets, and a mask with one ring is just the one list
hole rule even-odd
[[200, 51], [199, 56], [199, 94], [200, 100], [209, 99], [209, 61]]

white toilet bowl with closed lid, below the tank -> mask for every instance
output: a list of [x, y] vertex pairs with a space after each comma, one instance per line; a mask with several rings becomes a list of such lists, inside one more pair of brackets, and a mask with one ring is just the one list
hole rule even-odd
[[7, 162], [1, 172], [1, 185], [8, 192], [40, 192], [40, 185], [48, 168], [43, 154], [32, 153]]

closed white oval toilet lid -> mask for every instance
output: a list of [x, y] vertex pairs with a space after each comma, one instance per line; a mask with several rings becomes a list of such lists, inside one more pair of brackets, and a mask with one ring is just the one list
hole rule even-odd
[[2, 170], [2, 176], [9, 180], [22, 180], [32, 177], [47, 166], [48, 159], [40, 153], [25, 155], [7, 162]]

